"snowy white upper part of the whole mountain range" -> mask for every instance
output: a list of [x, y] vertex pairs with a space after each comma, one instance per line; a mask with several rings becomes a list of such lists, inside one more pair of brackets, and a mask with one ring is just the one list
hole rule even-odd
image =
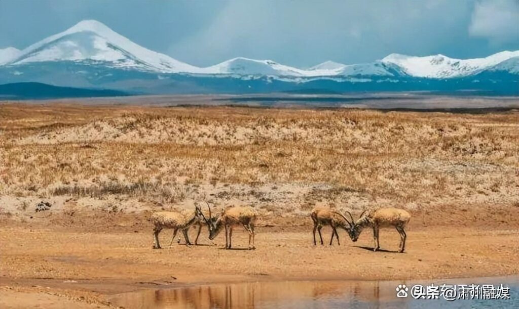
[[[271, 60], [234, 58], [200, 68], [148, 50], [117, 34], [95, 20], [77, 23], [64, 32], [43, 39], [19, 51], [0, 50], [0, 65], [20, 66], [49, 62], [91, 63], [105, 67], [160, 73], [192, 73], [232, 76], [273, 76], [282, 78], [389, 77], [458, 78], [475, 75], [519, 56], [519, 51], [503, 51], [486, 58], [460, 60], [444, 55], [424, 57], [390, 54], [380, 61], [344, 65], [332, 61], [304, 70]], [[517, 74], [516, 62], [507, 64]], [[504, 67], [503, 67], [504, 68]], [[21, 72], [21, 71], [20, 71]]]

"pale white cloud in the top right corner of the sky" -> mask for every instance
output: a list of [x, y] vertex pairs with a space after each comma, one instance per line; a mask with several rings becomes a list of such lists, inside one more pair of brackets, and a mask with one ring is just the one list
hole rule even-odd
[[519, 1], [481, 0], [475, 4], [469, 34], [493, 44], [519, 40]]

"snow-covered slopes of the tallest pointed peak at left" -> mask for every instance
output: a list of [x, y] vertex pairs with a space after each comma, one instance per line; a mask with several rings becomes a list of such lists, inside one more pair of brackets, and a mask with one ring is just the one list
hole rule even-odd
[[20, 52], [9, 64], [44, 61], [97, 61], [114, 67], [161, 72], [197, 71], [197, 67], [141, 47], [95, 20], [84, 20]]

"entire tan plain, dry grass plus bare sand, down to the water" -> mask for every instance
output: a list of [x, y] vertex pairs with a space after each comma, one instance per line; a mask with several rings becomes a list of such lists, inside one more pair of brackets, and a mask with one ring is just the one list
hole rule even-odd
[[[445, 104], [443, 102], [442, 104]], [[200, 283], [519, 275], [519, 113], [0, 105], [0, 308], [113, 307]], [[202, 231], [152, 249], [153, 211], [247, 204], [256, 250]], [[39, 201], [52, 204], [35, 212]], [[412, 214], [314, 246], [310, 210]], [[192, 233], [192, 240], [194, 239]]]

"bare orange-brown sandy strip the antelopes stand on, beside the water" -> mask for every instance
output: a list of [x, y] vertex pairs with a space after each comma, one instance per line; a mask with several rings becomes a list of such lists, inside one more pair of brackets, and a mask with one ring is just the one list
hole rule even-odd
[[[115, 293], [196, 283], [519, 275], [519, 209], [490, 212], [475, 224], [459, 222], [482, 212], [460, 212], [432, 224], [430, 214], [415, 213], [404, 254], [395, 253], [394, 230], [381, 232], [382, 250], [376, 253], [369, 230], [356, 243], [342, 231], [340, 246], [314, 246], [309, 219], [295, 228], [290, 221], [287, 227], [258, 227], [255, 251], [245, 249], [248, 237], [239, 229], [234, 250], [223, 249], [223, 235], [213, 245], [206, 230], [201, 245], [193, 247], [176, 241], [168, 247], [166, 230], [160, 238], [164, 248], [152, 249], [151, 226], [142, 217], [86, 216], [72, 227], [50, 224], [52, 216], [66, 221], [59, 214], [25, 224], [4, 219], [0, 307], [112, 306], [107, 299]], [[323, 231], [327, 242], [330, 230]]]

